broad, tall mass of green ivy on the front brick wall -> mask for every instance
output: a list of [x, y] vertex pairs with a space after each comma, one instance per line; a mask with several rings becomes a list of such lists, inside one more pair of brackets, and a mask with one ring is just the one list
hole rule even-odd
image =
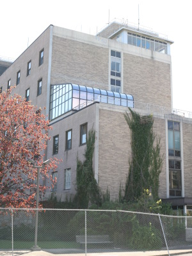
[[[160, 154], [161, 138], [153, 131], [152, 115], [140, 116], [132, 111], [125, 113], [125, 120], [131, 130], [131, 159], [129, 174], [125, 183], [125, 201], [136, 201], [143, 190], [150, 188], [154, 200], [158, 198], [159, 174], [163, 167]], [[156, 142], [156, 145], [154, 145]]]

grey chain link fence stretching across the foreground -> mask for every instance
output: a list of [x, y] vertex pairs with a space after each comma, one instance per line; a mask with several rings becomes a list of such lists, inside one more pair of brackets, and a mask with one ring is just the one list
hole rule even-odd
[[[1, 251], [37, 248], [56, 253], [192, 251], [192, 217], [122, 210], [0, 208]], [[173, 255], [173, 254], [172, 254]]]

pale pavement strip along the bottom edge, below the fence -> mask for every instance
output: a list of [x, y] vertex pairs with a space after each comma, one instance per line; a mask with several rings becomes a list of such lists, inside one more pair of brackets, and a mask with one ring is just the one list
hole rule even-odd
[[[170, 255], [180, 255], [180, 256], [192, 256], [191, 250], [170, 250]], [[54, 250], [40, 250], [40, 251], [28, 251], [28, 250], [18, 250], [18, 251], [0, 251], [0, 256], [85, 256], [85, 253], [77, 253], [70, 250], [54, 249]], [[167, 250], [161, 251], [116, 251], [116, 252], [92, 252], [86, 253], [86, 256], [165, 256], [168, 255]]]

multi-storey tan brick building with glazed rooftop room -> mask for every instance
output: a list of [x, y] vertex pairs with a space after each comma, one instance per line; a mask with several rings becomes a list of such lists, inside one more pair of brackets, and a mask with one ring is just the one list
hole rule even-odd
[[116, 199], [131, 156], [124, 113], [134, 107], [153, 114], [154, 131], [161, 135], [159, 196], [176, 208], [192, 205], [192, 119], [173, 110], [172, 43], [127, 24], [111, 23], [95, 36], [51, 25], [1, 75], [3, 90], [16, 84], [15, 93], [46, 107], [53, 127], [46, 158], [63, 159], [52, 173], [58, 198], [76, 192], [76, 158], [83, 160], [93, 127], [95, 179]]

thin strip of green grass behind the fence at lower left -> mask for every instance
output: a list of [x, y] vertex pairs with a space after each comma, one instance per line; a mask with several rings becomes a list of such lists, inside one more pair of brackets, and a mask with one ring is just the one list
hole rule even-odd
[[[15, 249], [28, 249], [34, 245], [34, 242], [27, 241], [14, 241], [13, 248]], [[42, 249], [70, 249], [70, 248], [80, 248], [80, 244], [77, 242], [62, 242], [62, 241], [40, 241], [37, 245]], [[8, 240], [0, 240], [0, 248], [2, 249], [12, 249], [12, 242]]]

